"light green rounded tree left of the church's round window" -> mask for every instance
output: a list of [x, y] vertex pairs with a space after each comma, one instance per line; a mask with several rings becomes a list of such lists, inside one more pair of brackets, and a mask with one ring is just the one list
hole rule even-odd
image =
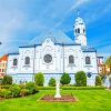
[[44, 77], [43, 77], [43, 73], [39, 72], [39, 73], [36, 73], [34, 74], [34, 81], [36, 81], [36, 84], [37, 85], [43, 85], [43, 82], [44, 82]]

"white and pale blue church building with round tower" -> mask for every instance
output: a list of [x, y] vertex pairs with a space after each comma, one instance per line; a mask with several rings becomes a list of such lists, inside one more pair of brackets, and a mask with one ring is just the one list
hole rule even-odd
[[50, 78], [61, 77], [63, 72], [75, 83], [78, 71], [87, 73], [88, 85], [94, 85], [98, 74], [97, 50], [87, 46], [85, 24], [82, 18], [75, 19], [74, 40], [62, 31], [44, 32], [30, 44], [19, 47], [18, 53], [8, 54], [7, 74], [13, 83], [34, 80], [34, 73], [42, 72], [44, 85]]

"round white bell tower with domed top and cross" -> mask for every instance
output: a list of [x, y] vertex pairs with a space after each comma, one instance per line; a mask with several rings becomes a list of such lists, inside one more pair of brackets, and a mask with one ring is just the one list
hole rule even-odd
[[85, 24], [82, 18], [80, 18], [79, 12], [73, 27], [74, 27], [75, 43], [80, 43], [81, 46], [87, 46]]

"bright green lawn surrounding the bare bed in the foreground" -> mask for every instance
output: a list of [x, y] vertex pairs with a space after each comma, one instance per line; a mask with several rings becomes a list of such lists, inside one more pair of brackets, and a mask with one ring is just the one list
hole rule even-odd
[[37, 99], [54, 90], [41, 90], [34, 95], [0, 101], [0, 111], [111, 111], [111, 91], [108, 90], [62, 90], [73, 93], [78, 102], [37, 102]]

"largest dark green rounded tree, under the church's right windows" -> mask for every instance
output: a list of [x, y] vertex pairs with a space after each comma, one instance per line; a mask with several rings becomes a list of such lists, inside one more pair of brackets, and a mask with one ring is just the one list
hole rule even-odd
[[75, 78], [75, 85], [78, 85], [78, 87], [87, 85], [87, 75], [83, 71], [77, 72], [74, 78]]

